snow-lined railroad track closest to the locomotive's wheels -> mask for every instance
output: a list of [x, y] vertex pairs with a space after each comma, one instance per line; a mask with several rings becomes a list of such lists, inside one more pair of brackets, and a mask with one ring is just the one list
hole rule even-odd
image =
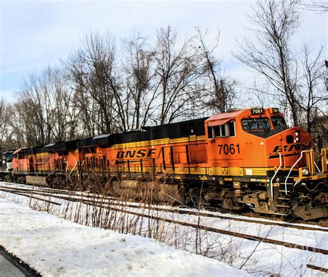
[[[129, 203], [120, 203], [119, 199], [115, 197], [108, 197], [108, 196], [97, 196], [97, 195], [86, 195], [84, 192], [78, 193], [78, 195], [75, 193], [72, 193], [68, 190], [53, 190], [53, 189], [29, 189], [29, 188], [8, 188], [6, 186], [0, 186], [0, 190], [5, 191], [7, 193], [15, 193], [21, 195], [21, 193], [30, 193], [29, 195], [33, 198], [35, 198], [33, 195], [42, 195], [42, 196], [48, 196], [48, 197], [55, 197], [55, 198], [61, 198], [57, 195], [69, 195], [69, 197], [66, 197], [64, 200], [72, 200], [73, 198], [77, 197], [77, 199], [80, 199], [79, 197], [89, 198], [93, 199], [93, 201], [96, 202], [95, 199], [100, 199], [101, 203], [106, 201], [114, 201], [109, 202], [111, 206], [125, 206], [127, 208], [147, 208], [151, 209], [153, 211], [163, 211], [167, 213], [179, 213], [179, 214], [186, 214], [186, 215], [194, 215], [194, 216], [201, 216], [201, 217], [212, 217], [212, 218], [219, 218], [222, 220], [233, 220], [237, 222], [249, 222], [249, 223], [255, 223], [255, 224], [264, 224], [264, 225], [276, 225], [276, 226], [282, 226], [287, 228], [293, 228], [293, 229], [301, 229], [301, 230], [307, 230], [307, 231], [324, 231], [327, 232], [328, 228], [326, 228], [325, 223], [323, 226], [311, 226], [309, 222], [304, 224], [303, 222], [295, 222], [295, 223], [289, 223], [289, 222], [281, 222], [281, 221], [273, 221], [273, 220], [257, 220], [254, 217], [250, 218], [244, 218], [244, 217], [232, 217], [228, 215], [217, 215], [215, 213], [211, 213], [209, 211], [201, 212], [201, 211], [192, 211], [190, 208], [163, 208], [158, 206], [150, 206], [149, 204], [129, 204]], [[42, 200], [42, 199], [39, 199]], [[49, 200], [47, 200], [49, 202]], [[302, 225], [299, 225], [298, 223], [301, 223]], [[311, 222], [312, 223], [312, 222]], [[314, 224], [314, 223], [312, 223]]]

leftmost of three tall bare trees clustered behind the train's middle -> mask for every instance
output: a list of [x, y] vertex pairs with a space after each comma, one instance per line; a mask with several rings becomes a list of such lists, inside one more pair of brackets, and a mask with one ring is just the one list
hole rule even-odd
[[98, 33], [90, 33], [65, 64], [79, 94], [75, 99], [80, 101], [82, 121], [86, 123], [89, 135], [110, 133], [115, 121], [124, 125], [120, 78], [115, 62], [115, 39], [109, 34], [101, 37]]

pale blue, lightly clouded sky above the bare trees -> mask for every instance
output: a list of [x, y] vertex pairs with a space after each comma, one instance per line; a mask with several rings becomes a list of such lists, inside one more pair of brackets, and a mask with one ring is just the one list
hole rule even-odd
[[[241, 84], [253, 82], [253, 73], [237, 62], [236, 39], [247, 34], [246, 12], [254, 1], [6, 1], [0, 0], [0, 98], [15, 100], [24, 78], [48, 65], [60, 65], [83, 35], [109, 31], [116, 39], [140, 30], [154, 42], [156, 29], [172, 26], [181, 37], [208, 28], [209, 42], [220, 30], [217, 57], [224, 71]], [[327, 44], [327, 13], [303, 11], [293, 37], [314, 48]], [[328, 55], [327, 55], [328, 56]], [[241, 86], [242, 89], [242, 86]]]

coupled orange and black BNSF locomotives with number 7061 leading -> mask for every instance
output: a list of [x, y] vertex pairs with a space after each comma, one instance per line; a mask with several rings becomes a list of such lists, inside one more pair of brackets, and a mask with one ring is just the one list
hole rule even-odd
[[13, 157], [2, 179], [27, 184], [99, 175], [130, 187], [143, 182], [168, 195], [177, 192], [185, 203], [201, 199], [204, 206], [228, 210], [248, 206], [303, 220], [327, 217], [327, 150], [316, 155], [311, 134], [288, 128], [275, 108], [234, 110], [5, 154]]

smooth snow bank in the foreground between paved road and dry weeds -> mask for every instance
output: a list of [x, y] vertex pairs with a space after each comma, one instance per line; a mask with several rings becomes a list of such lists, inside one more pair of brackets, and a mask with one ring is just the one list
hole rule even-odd
[[139, 235], [82, 226], [0, 199], [0, 244], [42, 276], [247, 276]]

